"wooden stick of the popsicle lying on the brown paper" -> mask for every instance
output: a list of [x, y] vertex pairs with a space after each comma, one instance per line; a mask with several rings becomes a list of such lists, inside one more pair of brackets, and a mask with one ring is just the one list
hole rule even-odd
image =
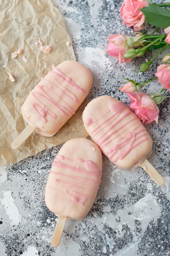
[[26, 128], [14, 139], [14, 141], [11, 144], [11, 148], [19, 148], [22, 145], [22, 143], [31, 135], [31, 133], [33, 133], [34, 130], [35, 128], [28, 124]]

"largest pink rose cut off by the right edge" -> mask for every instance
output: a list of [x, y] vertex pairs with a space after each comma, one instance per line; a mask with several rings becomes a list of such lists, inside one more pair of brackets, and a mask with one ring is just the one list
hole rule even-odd
[[[170, 56], [168, 57], [170, 58]], [[166, 59], [164, 58], [163, 60], [165, 61]], [[158, 81], [162, 84], [163, 89], [168, 89], [170, 91], [170, 65], [159, 65], [155, 76], [158, 77]]]

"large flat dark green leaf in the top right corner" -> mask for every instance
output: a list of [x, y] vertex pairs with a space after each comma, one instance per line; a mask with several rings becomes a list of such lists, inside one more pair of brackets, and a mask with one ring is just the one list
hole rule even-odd
[[149, 24], [163, 29], [170, 26], [170, 10], [161, 8], [157, 4], [150, 4], [140, 10]]

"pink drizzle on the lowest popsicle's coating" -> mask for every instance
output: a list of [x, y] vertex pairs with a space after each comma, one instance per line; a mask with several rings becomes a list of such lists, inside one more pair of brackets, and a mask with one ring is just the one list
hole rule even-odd
[[[91, 160], [74, 159], [75, 161], [82, 163], [84, 168], [79, 168], [65, 164], [64, 161], [72, 162], [73, 159], [68, 159], [63, 155], [57, 155], [53, 162], [53, 166], [56, 171], [50, 171], [51, 174], [57, 176], [55, 178], [56, 187], [49, 187], [57, 191], [60, 194], [61, 200], [71, 200], [79, 205], [84, 205], [88, 198], [95, 199], [93, 193], [99, 189], [101, 182], [101, 169]], [[70, 170], [70, 174], [66, 174], [62, 169]], [[72, 175], [77, 173], [77, 175]], [[88, 177], [80, 176], [81, 174], [88, 175]], [[60, 187], [64, 188], [64, 192], [61, 191]], [[79, 192], [81, 191], [81, 192]]]

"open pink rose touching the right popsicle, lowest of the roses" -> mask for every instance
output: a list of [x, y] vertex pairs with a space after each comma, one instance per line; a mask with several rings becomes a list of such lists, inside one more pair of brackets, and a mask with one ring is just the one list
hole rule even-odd
[[130, 108], [143, 124], [149, 124], [152, 121], [158, 123], [159, 108], [155, 102], [143, 92], [138, 92], [138, 94], [140, 97], [136, 93], [127, 93], [131, 99]]

